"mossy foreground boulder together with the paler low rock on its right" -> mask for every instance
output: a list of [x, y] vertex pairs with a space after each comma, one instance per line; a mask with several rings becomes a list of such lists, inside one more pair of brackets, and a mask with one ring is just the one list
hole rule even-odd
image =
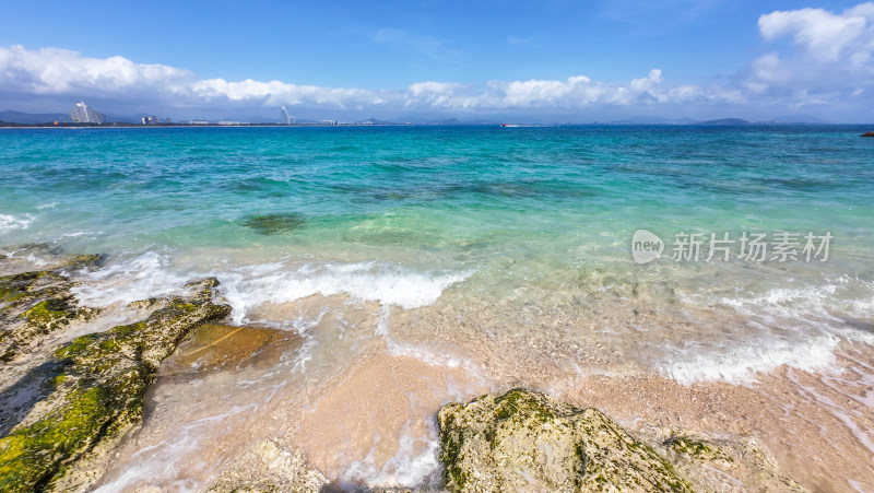
[[521, 389], [448, 404], [438, 421], [451, 491], [806, 491], [755, 438], [654, 426], [633, 437], [594, 409]]

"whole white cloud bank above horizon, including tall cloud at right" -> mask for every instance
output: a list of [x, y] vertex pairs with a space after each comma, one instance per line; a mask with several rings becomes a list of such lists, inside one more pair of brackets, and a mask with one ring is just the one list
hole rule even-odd
[[[321, 111], [378, 117], [406, 115], [541, 115], [591, 120], [601, 114], [648, 111], [687, 116], [752, 116], [811, 113], [845, 121], [870, 120], [874, 109], [874, 2], [842, 12], [805, 8], [758, 19], [765, 46], [740, 72], [720, 83], [671, 84], [658, 68], [641, 69], [627, 82], [586, 75], [564, 80], [463, 82], [423, 81], [403, 89], [365, 90], [282, 81], [199, 79], [164, 64], [121, 56], [92, 58], [63, 48], [0, 47], [0, 101], [22, 108], [32, 102], [85, 98], [116, 113], [157, 108], [175, 114], [221, 111]], [[380, 39], [399, 36], [382, 31]], [[781, 44], [781, 42], [784, 42]], [[425, 42], [422, 42], [425, 43]], [[293, 111], [294, 113], [294, 111]], [[577, 118], [575, 118], [575, 116]]]

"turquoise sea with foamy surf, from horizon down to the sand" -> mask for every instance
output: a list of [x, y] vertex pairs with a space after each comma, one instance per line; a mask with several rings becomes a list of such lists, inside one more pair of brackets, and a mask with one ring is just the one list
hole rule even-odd
[[[308, 338], [273, 386], [306, 362], [295, 385], [330, 379], [374, 339], [488, 385], [746, 385], [874, 345], [865, 130], [3, 130], [0, 249], [108, 255], [78, 289], [91, 306], [215, 275], [234, 322]], [[660, 258], [635, 261], [639, 230], [663, 240]], [[707, 260], [711, 233], [733, 240], [728, 261]], [[688, 234], [697, 261], [672, 258]], [[741, 255], [744, 234], [765, 234], [764, 260]], [[346, 476], [367, 469], [349, 461]], [[365, 479], [387, 477], [371, 466]]]

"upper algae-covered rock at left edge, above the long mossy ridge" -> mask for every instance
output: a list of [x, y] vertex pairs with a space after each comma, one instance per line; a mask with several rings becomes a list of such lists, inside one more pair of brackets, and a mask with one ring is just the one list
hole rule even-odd
[[78, 255], [52, 270], [0, 277], [0, 362], [28, 354], [54, 331], [96, 315], [94, 308], [76, 306], [70, 291], [76, 282], [67, 273], [92, 267], [99, 259], [96, 255]]

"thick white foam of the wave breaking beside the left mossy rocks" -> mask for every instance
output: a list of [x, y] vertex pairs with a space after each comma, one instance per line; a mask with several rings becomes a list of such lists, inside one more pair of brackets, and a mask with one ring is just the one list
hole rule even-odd
[[86, 273], [85, 282], [73, 287], [73, 293], [82, 305], [105, 307], [182, 294], [186, 282], [205, 275], [221, 281], [218, 292], [233, 307], [234, 321], [241, 324], [260, 305], [294, 302], [314, 294], [346, 294], [356, 301], [404, 309], [425, 306], [471, 272], [423, 272], [370, 261], [294, 267], [274, 262], [204, 273], [175, 268], [169, 257], [150, 251]]

